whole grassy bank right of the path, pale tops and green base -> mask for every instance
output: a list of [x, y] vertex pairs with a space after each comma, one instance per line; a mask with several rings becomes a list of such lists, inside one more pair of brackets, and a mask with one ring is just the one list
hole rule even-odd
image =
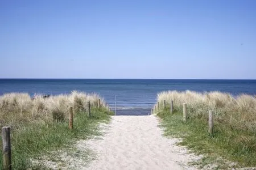
[[[167, 108], [163, 109], [164, 100]], [[174, 114], [170, 104], [174, 101]], [[236, 98], [221, 92], [168, 91], [158, 94], [160, 109], [155, 113], [162, 118], [165, 135], [183, 138], [185, 145], [199, 154], [207, 154], [201, 166], [216, 163], [225, 169], [231, 162], [237, 167], [256, 167], [256, 100], [254, 96]], [[183, 122], [182, 107], [187, 103], [188, 121]], [[156, 104], [157, 105], [157, 104]], [[208, 134], [208, 111], [214, 111], [213, 137]], [[224, 159], [220, 159], [224, 158]]]

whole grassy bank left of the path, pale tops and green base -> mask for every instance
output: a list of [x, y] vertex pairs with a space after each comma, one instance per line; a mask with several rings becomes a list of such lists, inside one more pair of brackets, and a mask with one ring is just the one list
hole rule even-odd
[[[26, 94], [1, 96], [1, 126], [11, 126], [13, 169], [42, 169], [43, 165], [32, 164], [31, 160], [41, 159], [42, 156], [51, 155], [53, 151], [67, 146], [72, 147], [72, 143], [79, 139], [100, 135], [99, 122], [108, 122], [113, 113], [104, 107], [97, 108], [98, 99], [100, 97], [97, 95], [79, 92], [47, 99], [36, 96], [34, 100]], [[91, 117], [85, 113], [85, 103], [88, 100], [92, 103]], [[72, 130], [68, 129], [68, 106], [73, 106], [75, 110]], [[56, 115], [58, 121], [54, 120]]]

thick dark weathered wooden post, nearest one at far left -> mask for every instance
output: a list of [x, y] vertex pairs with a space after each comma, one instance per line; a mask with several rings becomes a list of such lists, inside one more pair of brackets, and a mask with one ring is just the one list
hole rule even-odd
[[11, 170], [11, 133], [10, 127], [2, 128], [2, 146], [3, 146], [3, 169]]

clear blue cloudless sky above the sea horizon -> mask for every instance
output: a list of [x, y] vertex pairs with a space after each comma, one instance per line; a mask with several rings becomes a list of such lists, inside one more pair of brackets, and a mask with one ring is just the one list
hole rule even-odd
[[256, 79], [256, 1], [0, 1], [0, 78]]

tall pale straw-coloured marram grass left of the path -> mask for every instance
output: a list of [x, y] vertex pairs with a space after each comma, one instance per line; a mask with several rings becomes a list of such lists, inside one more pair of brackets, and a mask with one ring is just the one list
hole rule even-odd
[[[19, 122], [52, 121], [53, 118], [67, 119], [68, 107], [72, 106], [75, 113], [86, 109], [86, 101], [92, 107], [97, 105], [100, 96], [72, 91], [68, 95], [49, 96], [10, 93], [0, 96], [0, 128], [5, 125], [15, 126]], [[104, 105], [105, 106], [105, 105]], [[104, 107], [103, 106], [103, 107]]]

